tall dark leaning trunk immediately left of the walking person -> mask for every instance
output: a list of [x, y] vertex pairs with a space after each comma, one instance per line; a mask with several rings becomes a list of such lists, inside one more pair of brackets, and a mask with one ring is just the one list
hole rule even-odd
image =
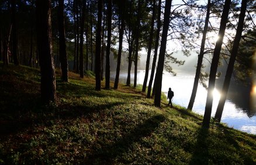
[[155, 73], [155, 99], [154, 105], [160, 107], [161, 103], [161, 89], [162, 89], [162, 71], [164, 70], [164, 57], [165, 57], [165, 49], [167, 42], [167, 34], [169, 28], [169, 21], [171, 15], [171, 0], [165, 1], [165, 9], [164, 9], [164, 25], [162, 27], [162, 40], [157, 64], [157, 72]]

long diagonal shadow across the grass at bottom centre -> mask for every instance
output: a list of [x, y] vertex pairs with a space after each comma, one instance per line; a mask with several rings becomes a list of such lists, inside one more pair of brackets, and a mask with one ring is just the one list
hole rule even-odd
[[[134, 142], [139, 142], [141, 138], [151, 135], [163, 121], [165, 121], [165, 116], [162, 114], [147, 119], [144, 123], [138, 124], [133, 130], [130, 130], [129, 134], [123, 135], [122, 139], [119, 139], [113, 144], [103, 145], [100, 149], [95, 149], [92, 155], [87, 157], [85, 163], [113, 164], [116, 157], [122, 156], [129, 149], [132, 150]], [[129, 162], [123, 163], [129, 164]]]

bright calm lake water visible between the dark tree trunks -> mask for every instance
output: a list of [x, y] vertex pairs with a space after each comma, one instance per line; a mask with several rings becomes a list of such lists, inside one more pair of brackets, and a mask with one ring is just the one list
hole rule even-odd
[[[110, 73], [112, 80], [115, 80], [115, 71]], [[137, 83], [143, 84], [144, 81], [144, 70], [139, 70], [137, 73]], [[126, 83], [127, 71], [121, 71], [119, 77], [119, 83]], [[178, 73], [177, 76], [173, 77], [171, 74], [164, 72], [162, 77], [162, 92], [165, 92], [167, 95], [168, 88], [171, 87], [174, 91], [174, 98], [172, 102], [177, 105], [184, 107], [188, 106], [189, 99], [191, 97], [191, 92], [193, 88], [193, 81], [195, 74], [189, 73]], [[133, 84], [134, 74], [131, 74], [131, 83]], [[217, 104], [219, 102], [220, 93], [219, 89], [215, 89], [214, 99], [213, 99], [213, 108], [212, 116], [215, 116]], [[199, 85], [198, 92], [196, 95], [195, 103], [193, 106], [193, 112], [204, 114], [205, 112], [205, 103], [206, 103], [207, 91], [202, 85]], [[254, 99], [256, 100], [256, 92], [254, 93]], [[241, 103], [227, 99], [224, 111], [222, 115], [222, 122], [227, 123], [229, 127], [233, 127], [237, 130], [248, 132], [250, 134], [256, 134], [256, 106], [255, 103], [253, 107], [248, 108], [249, 105], [243, 105], [243, 96], [241, 96]], [[239, 100], [239, 99], [238, 99]]]

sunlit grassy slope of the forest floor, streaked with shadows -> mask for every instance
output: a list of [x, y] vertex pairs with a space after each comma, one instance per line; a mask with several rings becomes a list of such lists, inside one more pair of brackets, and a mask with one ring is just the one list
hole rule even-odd
[[0, 164], [256, 164], [255, 135], [202, 128], [164, 95], [160, 109], [140, 89], [56, 74], [57, 103], [43, 106], [40, 71], [0, 63]]

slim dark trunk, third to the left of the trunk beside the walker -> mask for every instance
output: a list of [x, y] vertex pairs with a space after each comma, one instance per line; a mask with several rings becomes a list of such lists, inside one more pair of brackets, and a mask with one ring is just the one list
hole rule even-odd
[[136, 48], [135, 48], [135, 59], [134, 59], [134, 83], [133, 88], [137, 87], [137, 67], [138, 67], [138, 53], [139, 53], [139, 38], [140, 38], [140, 15], [141, 15], [141, 0], [138, 1], [138, 11], [137, 11], [137, 29], [136, 29]]

